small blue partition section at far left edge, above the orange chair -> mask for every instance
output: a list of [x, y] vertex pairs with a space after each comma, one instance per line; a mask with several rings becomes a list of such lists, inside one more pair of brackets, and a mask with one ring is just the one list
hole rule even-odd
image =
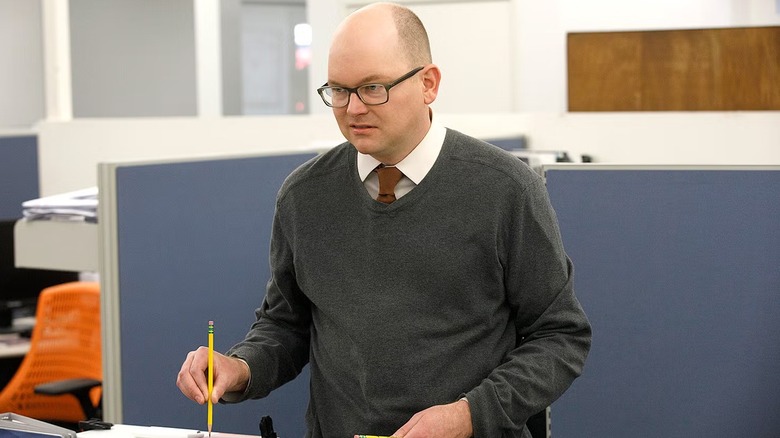
[[0, 136], [0, 220], [21, 218], [22, 202], [38, 196], [38, 138]]

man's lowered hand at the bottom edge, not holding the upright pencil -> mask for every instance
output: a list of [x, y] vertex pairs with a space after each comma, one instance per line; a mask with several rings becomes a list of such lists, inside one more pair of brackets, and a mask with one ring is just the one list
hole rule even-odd
[[470, 438], [472, 434], [469, 402], [458, 400], [455, 403], [433, 406], [414, 414], [393, 434], [393, 437]]

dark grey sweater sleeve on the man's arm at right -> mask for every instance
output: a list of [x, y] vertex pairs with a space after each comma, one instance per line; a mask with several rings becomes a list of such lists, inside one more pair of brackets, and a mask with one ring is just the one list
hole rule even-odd
[[[517, 342], [502, 364], [466, 396], [474, 437], [520, 436], [582, 373], [591, 327], [574, 295], [573, 267], [541, 180], [510, 208], [499, 250]], [[503, 246], [502, 246], [503, 245]]]

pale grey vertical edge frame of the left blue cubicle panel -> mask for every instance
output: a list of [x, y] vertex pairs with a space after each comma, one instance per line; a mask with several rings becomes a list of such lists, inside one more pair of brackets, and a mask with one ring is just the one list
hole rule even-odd
[[98, 266], [103, 348], [103, 419], [122, 423], [122, 367], [119, 333], [119, 263], [116, 208], [117, 164], [98, 164]]

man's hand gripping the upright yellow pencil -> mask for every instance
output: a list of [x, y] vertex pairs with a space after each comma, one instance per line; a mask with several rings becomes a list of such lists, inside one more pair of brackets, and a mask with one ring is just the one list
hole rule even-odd
[[[208, 399], [208, 355], [209, 349], [206, 347], [190, 351], [176, 377], [176, 386], [182, 394], [198, 404], [204, 404]], [[212, 403], [218, 403], [226, 392], [244, 391], [248, 382], [249, 367], [244, 361], [214, 352]]]

